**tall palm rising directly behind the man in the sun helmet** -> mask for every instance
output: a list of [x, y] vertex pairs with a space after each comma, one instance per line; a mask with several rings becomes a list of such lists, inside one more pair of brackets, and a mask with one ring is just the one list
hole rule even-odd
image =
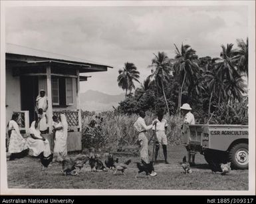
[[181, 50], [176, 47], [176, 62], [174, 62], [174, 76], [180, 82], [180, 90], [178, 96], [178, 110], [182, 106], [182, 91], [184, 84], [193, 84], [193, 76], [199, 71], [199, 66], [196, 62], [197, 55], [190, 45], [183, 45]]

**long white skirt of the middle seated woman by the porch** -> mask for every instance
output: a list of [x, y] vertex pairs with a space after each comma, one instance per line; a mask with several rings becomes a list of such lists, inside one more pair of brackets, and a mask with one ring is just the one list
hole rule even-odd
[[29, 145], [29, 155], [37, 157], [43, 152], [45, 157], [51, 154], [50, 144], [48, 140], [35, 140], [31, 137], [27, 138], [27, 144]]

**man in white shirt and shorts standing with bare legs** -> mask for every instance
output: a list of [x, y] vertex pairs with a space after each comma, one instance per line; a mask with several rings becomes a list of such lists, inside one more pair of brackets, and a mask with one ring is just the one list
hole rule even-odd
[[[162, 144], [163, 152], [164, 152], [164, 161], [165, 163], [169, 163], [167, 161], [167, 137], [166, 137], [166, 129], [168, 127], [166, 119], [164, 119], [164, 112], [160, 110], [158, 112], [158, 118], [154, 120], [157, 122], [156, 126], [153, 126], [152, 130], [156, 132], [156, 138], [158, 138], [158, 142], [156, 143], [156, 154], [155, 154], [155, 161], [158, 159], [158, 151], [160, 149], [160, 144]], [[156, 128], [155, 128], [156, 127]], [[155, 130], [156, 129], [156, 130]]]

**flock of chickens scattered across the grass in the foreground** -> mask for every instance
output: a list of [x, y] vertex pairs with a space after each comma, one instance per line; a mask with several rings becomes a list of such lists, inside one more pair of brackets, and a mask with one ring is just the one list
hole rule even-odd
[[[89, 155], [78, 154], [75, 157], [66, 156], [62, 160], [63, 169], [61, 171], [64, 175], [78, 175], [76, 169], [79, 169], [80, 171], [80, 169], [82, 169], [84, 164], [88, 161], [91, 171], [108, 171], [108, 168], [109, 171], [113, 170], [114, 174], [118, 172], [124, 174], [124, 171], [132, 162], [131, 159], [128, 159], [124, 163], [118, 163], [118, 158], [114, 159], [111, 153], [104, 153], [104, 157], [106, 158], [104, 161], [106, 166], [102, 163], [102, 161], [100, 161], [100, 155], [98, 153], [90, 153]], [[53, 154], [49, 155], [49, 157], [44, 157], [43, 153], [41, 153], [40, 159], [43, 166], [47, 169], [51, 161], [53, 161]], [[150, 163], [145, 163], [142, 160], [142, 163], [136, 162], [136, 165], [138, 167], [136, 177], [138, 177], [139, 173], [145, 172], [148, 176], [150, 173], [152, 173], [152, 171], [154, 171], [153, 161], [150, 161]], [[226, 164], [210, 163], [209, 167], [213, 173], [220, 173], [221, 175], [225, 175], [231, 170], [230, 162]], [[192, 173], [192, 168], [190, 167], [190, 163], [186, 161], [186, 156], [184, 156], [182, 159], [182, 168], [184, 169], [184, 173]]]

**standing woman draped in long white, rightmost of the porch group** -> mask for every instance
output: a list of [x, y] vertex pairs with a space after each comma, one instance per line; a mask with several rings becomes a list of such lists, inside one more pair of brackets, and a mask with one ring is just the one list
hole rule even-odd
[[66, 116], [61, 114], [61, 121], [55, 121], [57, 124], [54, 126], [55, 131], [55, 148], [53, 153], [55, 157], [64, 157], [67, 155], [67, 138], [68, 138], [68, 123], [66, 122]]

